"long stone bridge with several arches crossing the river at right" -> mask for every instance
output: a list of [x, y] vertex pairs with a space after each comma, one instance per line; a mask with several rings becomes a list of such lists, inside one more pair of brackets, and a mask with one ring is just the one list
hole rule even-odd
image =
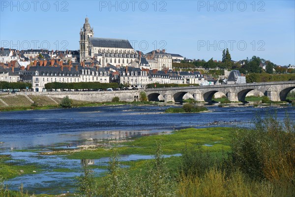
[[165, 102], [181, 102], [185, 94], [191, 94], [196, 101], [210, 102], [213, 95], [221, 92], [230, 101], [245, 101], [247, 93], [252, 90], [262, 92], [272, 101], [286, 100], [288, 93], [295, 88], [295, 81], [275, 81], [262, 83], [245, 83], [214, 86], [190, 86], [173, 88], [146, 89], [149, 101], [158, 101], [164, 98]]

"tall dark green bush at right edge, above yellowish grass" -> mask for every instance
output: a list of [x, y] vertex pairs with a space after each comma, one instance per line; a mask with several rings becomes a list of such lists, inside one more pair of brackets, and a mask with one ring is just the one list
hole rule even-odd
[[255, 130], [233, 133], [234, 164], [251, 178], [294, 184], [295, 124], [288, 116], [281, 123], [268, 115], [257, 118], [255, 125]]

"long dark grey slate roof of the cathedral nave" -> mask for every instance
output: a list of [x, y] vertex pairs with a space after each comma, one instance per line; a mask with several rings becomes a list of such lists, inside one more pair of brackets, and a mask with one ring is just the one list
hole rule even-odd
[[124, 39], [89, 37], [93, 47], [133, 49], [130, 42]]

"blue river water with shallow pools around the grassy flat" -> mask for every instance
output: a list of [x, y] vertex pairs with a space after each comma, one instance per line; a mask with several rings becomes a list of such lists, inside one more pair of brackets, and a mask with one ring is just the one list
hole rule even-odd
[[[295, 121], [295, 107], [208, 106], [209, 112], [165, 114], [170, 106], [100, 106], [70, 109], [0, 112], [0, 154], [11, 154], [12, 159], [22, 164], [42, 166], [41, 173], [22, 175], [5, 183], [17, 190], [24, 184], [30, 193], [60, 194], [74, 192], [73, 178], [80, 175], [80, 160], [62, 156], [40, 156], [35, 151], [24, 149], [76, 148], [89, 145], [93, 140], [126, 139], [153, 133], [169, 133], [174, 130], [194, 127], [253, 127], [256, 116], [277, 113], [282, 120], [288, 112]], [[167, 156], [169, 157], [169, 156]], [[150, 159], [150, 156], [128, 155], [121, 160]], [[87, 162], [106, 165], [108, 158]], [[69, 172], [54, 169], [66, 167]], [[94, 168], [95, 174], [105, 171]]]

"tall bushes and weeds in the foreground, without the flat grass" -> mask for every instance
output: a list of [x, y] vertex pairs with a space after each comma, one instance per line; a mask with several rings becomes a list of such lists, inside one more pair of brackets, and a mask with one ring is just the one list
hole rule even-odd
[[[189, 129], [177, 133], [189, 131], [198, 132]], [[231, 148], [226, 152], [212, 152], [200, 143], [187, 143], [183, 146], [179, 162], [174, 163], [178, 164], [174, 171], [169, 170], [171, 166], [167, 164], [171, 158], [163, 158], [165, 148], [161, 142], [156, 146], [155, 159], [146, 163], [145, 171], [139, 170], [137, 173], [123, 167], [115, 152], [102, 184], [95, 182], [94, 177], [92, 181], [85, 181], [89, 177], [85, 173], [77, 183], [78, 186], [84, 186], [80, 187], [79, 194], [81, 197], [295, 195], [295, 125], [288, 117], [283, 123], [270, 115], [266, 119], [257, 118], [255, 129], [235, 129], [230, 131], [230, 135]], [[87, 187], [86, 183], [89, 183]], [[86, 188], [93, 190], [84, 190]]]

